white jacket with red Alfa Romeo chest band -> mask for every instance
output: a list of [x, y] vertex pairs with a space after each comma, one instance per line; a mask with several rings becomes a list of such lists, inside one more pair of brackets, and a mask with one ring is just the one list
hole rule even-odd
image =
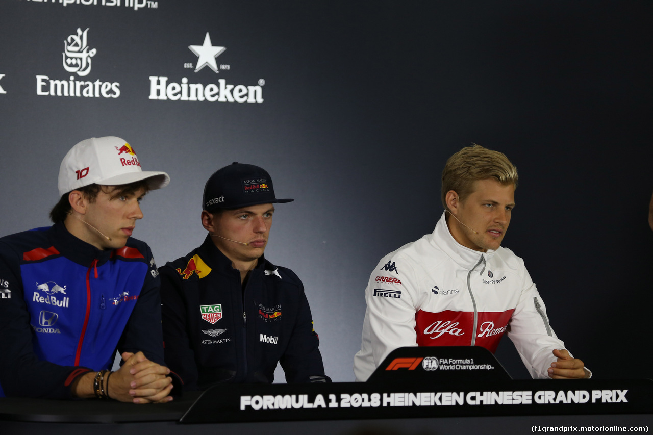
[[483, 346], [494, 353], [505, 332], [531, 376], [548, 379], [553, 349], [565, 347], [524, 261], [506, 248], [481, 253], [458, 244], [445, 214], [433, 233], [381, 259], [365, 299], [357, 381], [397, 347]]

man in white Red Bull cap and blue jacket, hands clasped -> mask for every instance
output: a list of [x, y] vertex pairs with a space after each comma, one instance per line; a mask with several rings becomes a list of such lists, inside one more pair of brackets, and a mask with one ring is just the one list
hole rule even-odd
[[54, 225], [0, 238], [0, 397], [172, 400], [157, 268], [130, 237], [140, 199], [169, 181], [121, 138], [82, 140], [59, 168]]

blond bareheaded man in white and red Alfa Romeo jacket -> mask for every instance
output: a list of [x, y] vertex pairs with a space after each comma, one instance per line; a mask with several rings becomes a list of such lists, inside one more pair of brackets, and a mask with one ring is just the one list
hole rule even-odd
[[503, 334], [533, 378], [590, 376], [551, 329], [524, 261], [501, 246], [517, 181], [503, 153], [475, 145], [449, 158], [436, 229], [383, 257], [370, 276], [357, 381], [397, 347], [483, 346], [494, 353]]

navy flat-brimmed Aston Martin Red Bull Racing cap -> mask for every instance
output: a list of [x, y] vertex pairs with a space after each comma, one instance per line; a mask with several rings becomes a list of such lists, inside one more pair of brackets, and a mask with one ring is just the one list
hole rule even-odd
[[291, 202], [294, 199], [276, 199], [272, 178], [258, 166], [234, 161], [218, 169], [206, 181], [202, 210], [228, 210], [255, 204]]

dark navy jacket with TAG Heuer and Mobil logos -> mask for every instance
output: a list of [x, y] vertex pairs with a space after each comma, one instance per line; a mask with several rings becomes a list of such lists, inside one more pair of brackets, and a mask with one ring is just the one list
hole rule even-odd
[[165, 360], [185, 389], [272, 383], [277, 362], [289, 383], [325, 382], [304, 286], [263, 257], [246, 285], [207, 236], [159, 268]]

